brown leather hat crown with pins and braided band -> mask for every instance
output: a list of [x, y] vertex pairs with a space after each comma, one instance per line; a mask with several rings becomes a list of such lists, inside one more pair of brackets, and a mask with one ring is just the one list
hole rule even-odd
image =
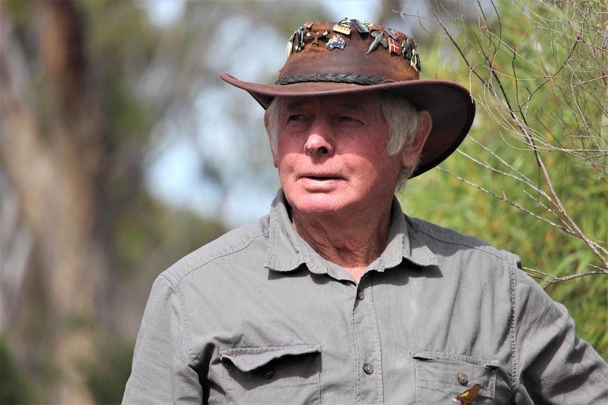
[[287, 55], [277, 85], [378, 85], [420, 78], [420, 56], [411, 37], [358, 20], [302, 25], [289, 39]]

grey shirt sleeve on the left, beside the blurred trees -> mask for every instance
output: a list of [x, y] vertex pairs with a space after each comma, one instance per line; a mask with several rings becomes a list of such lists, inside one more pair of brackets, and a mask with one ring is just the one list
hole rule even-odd
[[160, 275], [140, 326], [123, 404], [201, 404], [202, 387], [185, 347], [174, 285]]

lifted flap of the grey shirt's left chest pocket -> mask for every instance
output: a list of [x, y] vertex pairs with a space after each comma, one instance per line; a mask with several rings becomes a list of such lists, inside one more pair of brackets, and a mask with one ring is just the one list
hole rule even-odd
[[241, 347], [237, 349], [220, 350], [219, 359], [222, 361], [231, 361], [236, 368], [246, 373], [283, 356], [298, 356], [300, 354], [320, 352], [320, 346], [308, 344], [281, 347]]

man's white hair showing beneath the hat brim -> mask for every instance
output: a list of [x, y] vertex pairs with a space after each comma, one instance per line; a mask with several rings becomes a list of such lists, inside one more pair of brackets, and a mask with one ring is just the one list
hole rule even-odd
[[[279, 144], [277, 125], [279, 123], [279, 111], [283, 103], [284, 97], [275, 97], [265, 113], [270, 147], [275, 154]], [[380, 93], [380, 109], [389, 128], [387, 156], [395, 156], [401, 153], [404, 148], [411, 147], [415, 142], [418, 130], [418, 111], [405, 97], [389, 92]], [[396, 189], [402, 189], [406, 186], [408, 178], [417, 167], [418, 160], [412, 167], [401, 168]]]

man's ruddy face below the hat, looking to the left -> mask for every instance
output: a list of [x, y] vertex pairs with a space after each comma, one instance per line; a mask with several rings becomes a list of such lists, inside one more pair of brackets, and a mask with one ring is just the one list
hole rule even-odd
[[273, 152], [281, 186], [300, 215], [365, 215], [390, 204], [403, 156], [387, 156], [379, 94], [288, 98]]

